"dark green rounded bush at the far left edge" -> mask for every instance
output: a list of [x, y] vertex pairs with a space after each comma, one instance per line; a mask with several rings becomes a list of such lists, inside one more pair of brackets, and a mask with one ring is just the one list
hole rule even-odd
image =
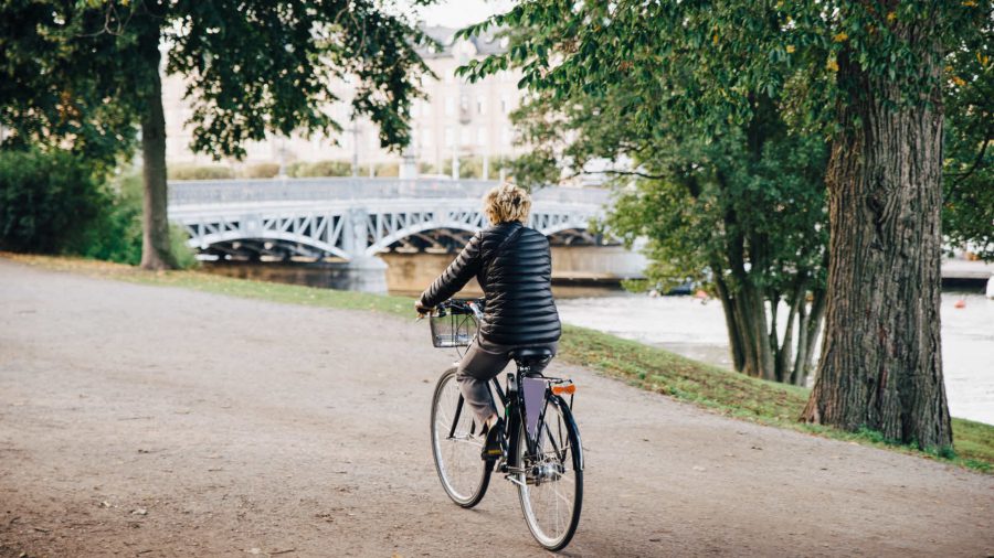
[[66, 151], [0, 151], [0, 247], [4, 249], [66, 251], [107, 203], [93, 169]]

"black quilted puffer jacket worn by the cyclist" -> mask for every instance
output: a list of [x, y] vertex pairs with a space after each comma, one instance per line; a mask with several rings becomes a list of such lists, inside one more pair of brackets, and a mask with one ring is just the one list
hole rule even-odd
[[[511, 238], [497, 254], [498, 247]], [[561, 333], [552, 300], [549, 240], [518, 222], [501, 223], [473, 235], [448, 268], [421, 294], [434, 307], [459, 291], [473, 276], [487, 298], [480, 335], [490, 343], [551, 343]]]

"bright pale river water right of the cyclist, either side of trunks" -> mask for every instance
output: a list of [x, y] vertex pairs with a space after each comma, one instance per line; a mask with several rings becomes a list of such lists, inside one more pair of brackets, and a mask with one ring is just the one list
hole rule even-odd
[[[964, 308], [955, 308], [962, 300]], [[613, 293], [557, 301], [562, 321], [731, 367], [718, 301]], [[942, 364], [950, 412], [994, 425], [994, 300], [942, 294]]]

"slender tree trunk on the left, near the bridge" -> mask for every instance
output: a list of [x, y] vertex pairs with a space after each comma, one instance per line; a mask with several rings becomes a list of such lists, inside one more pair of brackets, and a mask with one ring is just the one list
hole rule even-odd
[[[147, 23], [148, 24], [148, 23]], [[144, 60], [149, 65], [145, 110], [141, 116], [141, 157], [145, 202], [142, 215], [141, 267], [175, 269], [169, 247], [166, 185], [166, 117], [162, 111], [162, 82], [159, 76], [159, 30], [148, 24], [141, 35]]]

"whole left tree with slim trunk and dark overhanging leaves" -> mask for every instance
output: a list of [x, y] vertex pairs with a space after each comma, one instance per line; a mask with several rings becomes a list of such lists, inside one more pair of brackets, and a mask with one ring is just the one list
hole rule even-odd
[[[410, 140], [406, 120], [426, 72], [426, 39], [374, 0], [113, 0], [0, 4], [0, 125], [7, 143], [71, 143], [113, 161], [140, 129], [141, 266], [175, 267], [166, 214], [161, 69], [186, 77], [192, 148], [244, 155], [267, 132], [340, 131], [336, 81], [383, 146]], [[162, 52], [166, 51], [165, 61]]]

